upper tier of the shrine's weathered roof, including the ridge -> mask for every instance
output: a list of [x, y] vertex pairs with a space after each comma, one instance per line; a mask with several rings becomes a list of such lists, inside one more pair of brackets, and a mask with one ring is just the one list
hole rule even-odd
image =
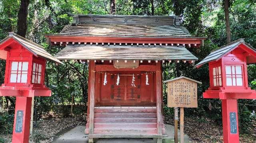
[[178, 16], [75, 15], [59, 35], [190, 37]]

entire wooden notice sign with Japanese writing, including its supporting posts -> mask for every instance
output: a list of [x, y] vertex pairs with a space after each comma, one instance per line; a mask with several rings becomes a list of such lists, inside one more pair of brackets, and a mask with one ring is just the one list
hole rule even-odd
[[178, 143], [178, 108], [180, 107], [180, 143], [184, 143], [184, 108], [197, 108], [197, 84], [202, 82], [180, 76], [167, 82], [167, 106], [174, 107], [174, 140]]

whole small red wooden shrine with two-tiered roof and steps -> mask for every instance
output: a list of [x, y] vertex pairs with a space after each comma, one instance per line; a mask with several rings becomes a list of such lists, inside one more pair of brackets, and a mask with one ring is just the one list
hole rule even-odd
[[198, 60], [200, 47], [177, 16], [74, 15], [59, 34], [56, 58], [88, 62], [86, 133], [93, 138], [157, 138], [162, 142], [162, 64]]

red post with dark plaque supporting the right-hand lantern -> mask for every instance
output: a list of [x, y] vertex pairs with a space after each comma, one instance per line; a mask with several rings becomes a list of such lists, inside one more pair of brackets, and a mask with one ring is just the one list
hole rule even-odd
[[239, 143], [237, 99], [222, 100], [223, 143]]

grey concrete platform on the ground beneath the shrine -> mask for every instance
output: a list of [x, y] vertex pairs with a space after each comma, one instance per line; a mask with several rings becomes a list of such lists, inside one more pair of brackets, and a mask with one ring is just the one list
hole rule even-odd
[[[163, 138], [163, 143], [174, 143], [174, 127], [172, 125], [165, 125], [168, 137]], [[84, 135], [85, 125], [79, 125], [70, 129], [60, 137], [54, 139], [52, 143], [88, 143], [88, 138]], [[184, 135], [185, 143], [191, 140], [188, 135]], [[95, 143], [156, 143], [156, 139], [133, 139], [133, 138], [114, 138], [114, 139], [97, 139]]]

